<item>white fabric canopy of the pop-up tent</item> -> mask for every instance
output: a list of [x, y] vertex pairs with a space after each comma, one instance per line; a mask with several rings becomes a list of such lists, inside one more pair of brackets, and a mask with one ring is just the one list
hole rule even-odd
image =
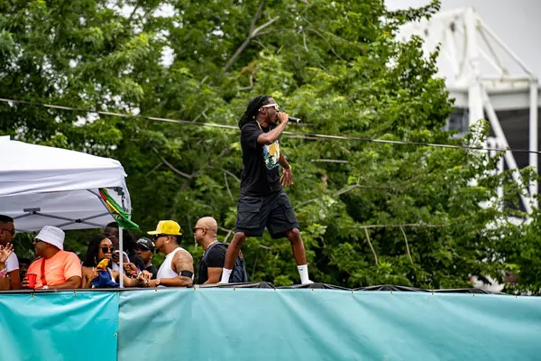
[[114, 218], [98, 197], [99, 188], [107, 188], [118, 204], [131, 209], [126, 174], [118, 161], [9, 137], [0, 137], [0, 153], [0, 214], [15, 218], [18, 232], [46, 225], [104, 227]]

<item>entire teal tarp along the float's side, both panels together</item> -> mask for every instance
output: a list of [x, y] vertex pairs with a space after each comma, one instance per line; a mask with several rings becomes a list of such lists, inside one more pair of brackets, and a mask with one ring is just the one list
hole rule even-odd
[[541, 358], [534, 297], [215, 288], [2, 295], [0, 306], [0, 354], [13, 360], [114, 359], [117, 320], [119, 360]]

